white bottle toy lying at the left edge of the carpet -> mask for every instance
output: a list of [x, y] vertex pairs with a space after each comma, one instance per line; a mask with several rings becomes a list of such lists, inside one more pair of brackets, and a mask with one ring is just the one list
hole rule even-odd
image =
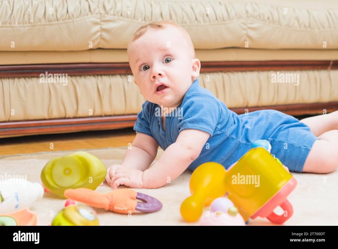
[[41, 200], [44, 188], [21, 178], [0, 180], [0, 215], [33, 206]]

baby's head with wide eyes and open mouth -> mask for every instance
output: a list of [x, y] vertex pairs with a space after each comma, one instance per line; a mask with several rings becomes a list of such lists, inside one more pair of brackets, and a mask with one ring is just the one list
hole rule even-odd
[[[140, 93], [163, 107], [182, 103], [199, 75], [200, 61], [195, 58], [189, 33], [171, 20], [140, 27], [128, 44], [127, 54]], [[163, 89], [161, 84], [167, 87]]]

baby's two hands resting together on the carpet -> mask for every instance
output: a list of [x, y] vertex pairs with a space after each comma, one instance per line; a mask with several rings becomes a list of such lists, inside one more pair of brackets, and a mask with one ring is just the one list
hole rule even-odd
[[107, 168], [105, 180], [113, 189], [117, 189], [119, 185], [131, 188], [144, 188], [142, 174], [143, 172], [138, 169], [128, 168], [121, 164], [113, 164]]

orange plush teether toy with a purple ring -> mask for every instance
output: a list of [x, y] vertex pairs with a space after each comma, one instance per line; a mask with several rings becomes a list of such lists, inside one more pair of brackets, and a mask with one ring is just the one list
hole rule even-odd
[[162, 208], [162, 203], [159, 200], [130, 188], [120, 188], [106, 194], [88, 188], [76, 188], [67, 189], [64, 195], [74, 201], [117, 213], [134, 213], [135, 210], [149, 213]]

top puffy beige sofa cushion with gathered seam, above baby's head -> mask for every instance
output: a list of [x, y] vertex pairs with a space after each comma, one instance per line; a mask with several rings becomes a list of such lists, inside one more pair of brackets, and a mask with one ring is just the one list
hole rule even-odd
[[7, 0], [0, 51], [125, 49], [137, 28], [162, 19], [183, 26], [195, 49], [338, 49], [336, 0]]

